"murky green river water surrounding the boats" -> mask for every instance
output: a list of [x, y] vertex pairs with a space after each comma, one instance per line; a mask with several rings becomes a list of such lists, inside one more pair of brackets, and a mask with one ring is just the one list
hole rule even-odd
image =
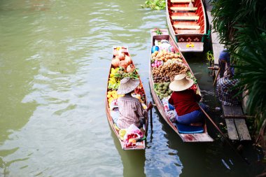
[[[249, 144], [247, 165], [217, 138], [214, 126], [209, 125], [213, 143], [183, 143], [156, 108], [146, 150], [121, 150], [104, 107], [112, 47], [129, 47], [152, 101], [149, 31], [167, 27], [165, 10], [142, 9], [143, 3], [0, 0], [0, 176], [205, 177], [262, 171]], [[185, 57], [204, 102], [215, 108], [207, 60]]]

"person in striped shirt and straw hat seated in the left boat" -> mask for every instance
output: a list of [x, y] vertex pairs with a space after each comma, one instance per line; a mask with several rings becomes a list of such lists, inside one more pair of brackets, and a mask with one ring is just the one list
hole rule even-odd
[[153, 107], [152, 104], [149, 104], [148, 108], [144, 110], [139, 99], [132, 97], [132, 92], [138, 86], [139, 79], [126, 77], [120, 80], [117, 93], [125, 94], [125, 96], [118, 98], [119, 116], [117, 120], [113, 120], [120, 129], [127, 129], [132, 124], [141, 128], [141, 122], [145, 122], [144, 118], [148, 116], [147, 112]]

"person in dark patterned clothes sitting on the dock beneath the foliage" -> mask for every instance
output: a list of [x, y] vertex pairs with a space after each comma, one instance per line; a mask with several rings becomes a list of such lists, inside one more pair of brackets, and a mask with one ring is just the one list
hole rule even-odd
[[222, 102], [223, 105], [237, 105], [239, 104], [239, 97], [237, 93], [239, 92], [238, 89], [234, 89], [234, 87], [238, 80], [232, 78], [232, 70], [228, 67], [225, 70], [223, 78], [218, 79], [216, 85], [216, 97]]

